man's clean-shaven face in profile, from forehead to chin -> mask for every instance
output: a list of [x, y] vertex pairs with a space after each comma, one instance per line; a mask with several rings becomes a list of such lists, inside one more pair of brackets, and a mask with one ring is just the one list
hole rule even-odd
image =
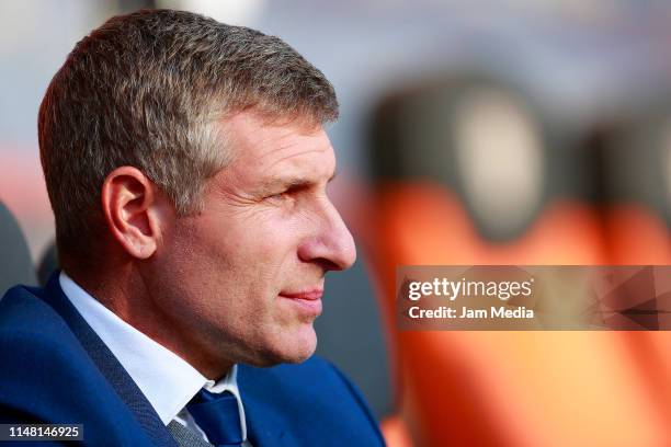
[[316, 347], [326, 272], [356, 256], [327, 196], [333, 149], [321, 126], [298, 121], [244, 112], [224, 126], [231, 162], [159, 248], [159, 306], [207, 358], [300, 362]]

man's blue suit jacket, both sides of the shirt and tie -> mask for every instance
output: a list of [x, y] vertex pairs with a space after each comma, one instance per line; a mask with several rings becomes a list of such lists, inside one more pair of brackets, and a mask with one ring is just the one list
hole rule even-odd
[[[359, 391], [322, 359], [240, 365], [238, 385], [255, 447], [384, 444]], [[83, 424], [91, 446], [175, 446], [57, 274], [44, 289], [18, 286], [0, 300], [0, 422]]]

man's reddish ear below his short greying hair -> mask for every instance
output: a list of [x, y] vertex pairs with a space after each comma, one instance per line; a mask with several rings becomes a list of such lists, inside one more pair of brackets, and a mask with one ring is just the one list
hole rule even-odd
[[105, 221], [130, 256], [146, 260], [156, 252], [161, 237], [161, 199], [153, 182], [136, 168], [117, 168], [105, 179], [102, 186]]

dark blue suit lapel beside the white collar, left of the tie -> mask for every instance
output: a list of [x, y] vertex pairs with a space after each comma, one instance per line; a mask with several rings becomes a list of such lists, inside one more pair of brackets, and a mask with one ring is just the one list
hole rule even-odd
[[174, 439], [166, 429], [160, 417], [145, 398], [145, 394], [135, 385], [128, 373], [118, 363], [110, 348], [95, 334], [91, 326], [86, 322], [75, 306], [65, 296], [56, 271], [46, 286], [44, 300], [49, 303], [56, 312], [66, 321], [75, 336], [79, 340], [87, 351], [98, 369], [107, 379], [112, 388], [120, 398], [126, 403], [140, 426], [145, 429], [152, 443], [157, 446], [177, 446]]

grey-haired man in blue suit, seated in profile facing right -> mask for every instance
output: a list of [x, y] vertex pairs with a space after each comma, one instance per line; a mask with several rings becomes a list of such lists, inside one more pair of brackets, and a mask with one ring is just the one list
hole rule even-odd
[[62, 272], [0, 301], [2, 422], [83, 424], [89, 445], [384, 444], [311, 357], [325, 274], [355, 259], [326, 194], [337, 115], [322, 73], [253, 30], [140, 11], [82, 39], [38, 119]]

